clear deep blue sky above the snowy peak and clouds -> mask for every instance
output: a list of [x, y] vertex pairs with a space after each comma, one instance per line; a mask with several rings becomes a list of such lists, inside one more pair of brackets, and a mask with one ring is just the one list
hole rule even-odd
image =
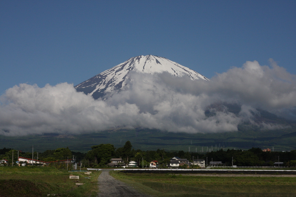
[[296, 74], [296, 1], [0, 0], [0, 95], [77, 85], [148, 54], [209, 78], [269, 58]]

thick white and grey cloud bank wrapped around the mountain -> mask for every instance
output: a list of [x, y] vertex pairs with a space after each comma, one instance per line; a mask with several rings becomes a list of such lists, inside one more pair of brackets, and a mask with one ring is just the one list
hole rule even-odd
[[[79, 134], [139, 126], [187, 133], [236, 131], [245, 121], [258, 124], [253, 121], [257, 108], [295, 118], [296, 76], [272, 60], [271, 67], [246, 62], [210, 82], [168, 73], [133, 72], [129, 78], [125, 90], [98, 100], [68, 83], [9, 88], [1, 96], [0, 135]], [[239, 104], [239, 113], [221, 105], [210, 107], [224, 102]], [[264, 122], [260, 126], [283, 127]]]

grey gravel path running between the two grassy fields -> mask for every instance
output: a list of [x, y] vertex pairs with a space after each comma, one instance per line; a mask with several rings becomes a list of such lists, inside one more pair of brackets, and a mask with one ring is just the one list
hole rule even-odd
[[98, 178], [98, 184], [100, 190], [98, 197], [147, 197], [131, 186], [113, 178], [109, 175], [109, 171], [102, 171]]

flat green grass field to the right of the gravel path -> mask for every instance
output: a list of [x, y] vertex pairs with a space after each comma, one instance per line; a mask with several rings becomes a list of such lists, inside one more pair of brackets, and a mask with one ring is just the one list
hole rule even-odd
[[110, 175], [154, 196], [296, 196], [296, 177], [200, 177], [169, 174]]

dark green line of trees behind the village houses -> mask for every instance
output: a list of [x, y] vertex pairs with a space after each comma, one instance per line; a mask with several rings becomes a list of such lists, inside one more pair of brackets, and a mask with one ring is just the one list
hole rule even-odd
[[[12, 151], [14, 151], [14, 162], [17, 161], [17, 150], [10, 148], [0, 149], [0, 159], [7, 159], [12, 163]], [[21, 152], [19, 156], [32, 158], [32, 152]], [[263, 152], [260, 148], [251, 148], [249, 150], [217, 150], [205, 153], [184, 152], [184, 151], [165, 151], [157, 149], [156, 151], [142, 151], [133, 149], [130, 141], [127, 141], [123, 147], [115, 148], [112, 144], [99, 144], [91, 146], [87, 153], [73, 152], [67, 148], [57, 148], [55, 150], [46, 150], [38, 153], [38, 160], [44, 162], [61, 161], [67, 158], [75, 157], [77, 162], [81, 162], [83, 167], [103, 167], [106, 166], [111, 158], [122, 158], [127, 164], [130, 161], [136, 161], [140, 167], [149, 165], [149, 162], [156, 160], [161, 167], [166, 167], [170, 158], [177, 156], [181, 159], [207, 159], [210, 161], [222, 162], [226, 166], [231, 166], [232, 162], [237, 166], [273, 166], [274, 162], [284, 162], [285, 166], [296, 165], [296, 150], [277, 152]], [[33, 153], [34, 159], [37, 159], [37, 152]]]

